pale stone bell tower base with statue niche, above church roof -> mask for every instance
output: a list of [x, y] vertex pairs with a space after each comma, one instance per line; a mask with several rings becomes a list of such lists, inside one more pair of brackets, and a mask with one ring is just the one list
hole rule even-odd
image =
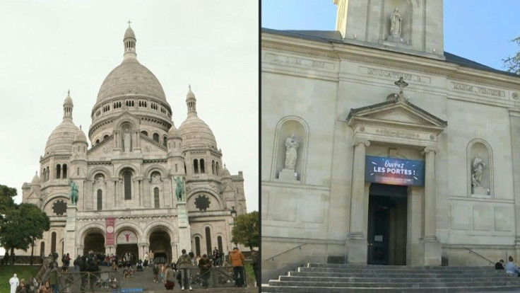
[[344, 42], [444, 59], [442, 0], [333, 0]]

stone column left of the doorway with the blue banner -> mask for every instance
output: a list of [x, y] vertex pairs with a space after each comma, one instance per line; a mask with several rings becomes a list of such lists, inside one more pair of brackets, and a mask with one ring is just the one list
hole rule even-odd
[[367, 209], [365, 207], [365, 154], [370, 142], [356, 139], [350, 193], [350, 231], [347, 236], [347, 262], [367, 263]]

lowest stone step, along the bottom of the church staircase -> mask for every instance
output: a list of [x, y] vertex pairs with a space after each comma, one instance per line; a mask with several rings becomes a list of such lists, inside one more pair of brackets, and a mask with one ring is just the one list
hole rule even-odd
[[[518, 292], [520, 286], [492, 286], [492, 287], [435, 287], [420, 288], [420, 293], [459, 293], [459, 292]], [[261, 292], [278, 292], [278, 293], [415, 293], [417, 288], [335, 288], [335, 287], [261, 287]]]

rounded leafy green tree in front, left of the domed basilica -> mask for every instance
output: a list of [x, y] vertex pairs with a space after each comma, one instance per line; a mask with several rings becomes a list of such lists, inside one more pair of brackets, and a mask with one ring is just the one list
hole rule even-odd
[[27, 251], [32, 246], [32, 257], [35, 241], [49, 229], [49, 217], [39, 207], [29, 203], [14, 205], [6, 210], [4, 221], [0, 224], [0, 245], [6, 250], [10, 249], [11, 255], [15, 249]]

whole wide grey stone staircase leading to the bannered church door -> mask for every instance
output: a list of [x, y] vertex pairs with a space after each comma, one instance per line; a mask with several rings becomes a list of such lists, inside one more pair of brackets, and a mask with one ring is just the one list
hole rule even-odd
[[520, 277], [494, 267], [413, 267], [309, 263], [261, 292], [520, 292]]

